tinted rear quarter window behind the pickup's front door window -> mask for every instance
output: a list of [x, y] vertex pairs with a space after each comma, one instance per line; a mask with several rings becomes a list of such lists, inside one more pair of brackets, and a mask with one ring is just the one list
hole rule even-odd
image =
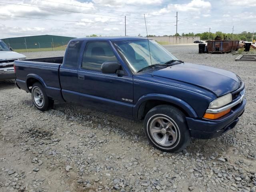
[[70, 42], [67, 48], [64, 66], [70, 67], [70, 68], [78, 67], [78, 58], [79, 58], [81, 46], [82, 46], [82, 41]]

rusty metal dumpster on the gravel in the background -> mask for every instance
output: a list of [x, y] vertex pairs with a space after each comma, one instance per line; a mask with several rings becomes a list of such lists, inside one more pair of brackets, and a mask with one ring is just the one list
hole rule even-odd
[[237, 51], [239, 41], [229, 40], [214, 40], [207, 41], [207, 48], [209, 53], [225, 53], [230, 51]]

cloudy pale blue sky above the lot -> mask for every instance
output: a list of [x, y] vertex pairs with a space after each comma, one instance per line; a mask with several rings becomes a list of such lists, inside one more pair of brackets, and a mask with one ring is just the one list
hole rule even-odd
[[[0, 39], [256, 31], [256, 0], [0, 0]], [[61, 11], [62, 10], [62, 11]], [[38, 19], [40, 18], [40, 19]]]

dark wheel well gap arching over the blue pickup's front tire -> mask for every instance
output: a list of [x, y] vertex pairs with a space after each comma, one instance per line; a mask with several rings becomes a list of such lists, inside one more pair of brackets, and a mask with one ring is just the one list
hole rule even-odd
[[166, 101], [161, 101], [161, 100], [148, 100], [148, 101], [143, 102], [140, 105], [140, 108], [138, 110], [138, 119], [140, 119], [140, 120], [144, 119], [144, 117], [146, 116], [146, 114], [148, 113], [148, 111], [150, 109], [154, 108], [155, 106], [164, 105], [164, 104], [174, 106], [174, 107], [178, 108], [179, 110], [181, 110], [185, 114], [185, 116], [188, 116], [188, 113], [183, 108], [181, 108], [180, 106], [178, 106], [176, 104], [166, 102]]

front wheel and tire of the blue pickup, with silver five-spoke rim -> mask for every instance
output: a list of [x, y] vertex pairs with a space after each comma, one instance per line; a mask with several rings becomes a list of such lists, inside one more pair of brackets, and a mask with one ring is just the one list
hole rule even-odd
[[184, 113], [170, 105], [152, 108], [145, 116], [144, 131], [149, 142], [165, 152], [180, 152], [191, 140]]

